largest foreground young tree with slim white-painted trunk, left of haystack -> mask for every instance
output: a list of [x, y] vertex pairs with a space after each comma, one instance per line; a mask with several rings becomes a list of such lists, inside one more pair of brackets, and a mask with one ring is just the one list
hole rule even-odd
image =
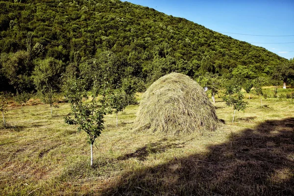
[[[78, 131], [85, 131], [88, 134], [88, 141], [91, 149], [91, 167], [93, 166], [93, 144], [104, 129], [105, 109], [98, 104], [97, 97], [90, 102], [83, 102], [82, 99], [89, 99], [85, 89], [86, 82], [82, 78], [69, 78], [64, 87], [66, 98], [71, 103], [73, 118], [67, 116], [65, 122], [78, 125]], [[104, 96], [103, 96], [104, 97]]]

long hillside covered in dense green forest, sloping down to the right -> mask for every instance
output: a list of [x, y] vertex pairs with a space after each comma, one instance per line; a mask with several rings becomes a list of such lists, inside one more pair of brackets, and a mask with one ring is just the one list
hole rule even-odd
[[34, 88], [31, 75], [45, 59], [62, 65], [56, 74], [106, 75], [113, 85], [125, 78], [150, 83], [170, 72], [195, 78], [241, 70], [254, 78], [287, 61], [186, 19], [119, 0], [1, 0], [0, 31], [0, 90]]

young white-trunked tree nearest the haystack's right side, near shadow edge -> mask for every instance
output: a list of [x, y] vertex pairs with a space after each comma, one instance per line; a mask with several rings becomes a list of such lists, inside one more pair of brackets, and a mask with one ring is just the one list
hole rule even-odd
[[247, 102], [245, 102], [241, 86], [236, 81], [231, 81], [226, 85], [225, 95], [222, 97], [227, 106], [232, 106], [234, 110], [233, 120], [235, 119], [236, 110], [245, 111]]

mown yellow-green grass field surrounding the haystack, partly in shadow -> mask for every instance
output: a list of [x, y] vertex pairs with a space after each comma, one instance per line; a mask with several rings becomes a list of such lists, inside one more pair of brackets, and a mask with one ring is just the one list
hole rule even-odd
[[49, 105], [31, 100], [22, 112], [12, 104], [10, 128], [0, 129], [0, 195], [294, 195], [294, 99], [263, 99], [261, 108], [258, 97], [245, 97], [234, 123], [217, 98], [225, 124], [204, 134], [133, 130], [138, 105], [119, 113], [119, 127], [108, 115], [93, 168], [87, 135], [64, 123], [68, 103], [52, 118]]

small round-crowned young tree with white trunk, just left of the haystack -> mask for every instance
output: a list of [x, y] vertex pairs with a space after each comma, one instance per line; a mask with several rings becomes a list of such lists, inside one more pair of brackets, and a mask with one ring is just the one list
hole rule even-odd
[[109, 113], [116, 113], [116, 124], [118, 126], [118, 113], [127, 106], [127, 95], [122, 89], [115, 89], [105, 97], [105, 104], [110, 109]]

